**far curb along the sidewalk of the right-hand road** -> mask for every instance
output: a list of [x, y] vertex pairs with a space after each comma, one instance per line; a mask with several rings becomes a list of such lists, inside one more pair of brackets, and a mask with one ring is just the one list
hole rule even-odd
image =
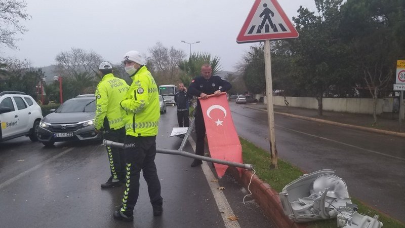
[[[245, 106], [245, 107], [267, 112], [266, 109], [262, 109], [262, 108], [255, 108], [255, 107], [249, 107], [249, 106]], [[392, 135], [392, 136], [405, 138], [405, 133], [400, 133], [400, 132], [380, 130], [380, 129], [374, 129], [374, 128], [368, 128], [368, 127], [361, 127], [361, 126], [355, 126], [355, 125], [350, 125], [350, 124], [343, 124], [343, 123], [338, 123], [338, 122], [334, 122], [334, 121], [327, 121], [327, 120], [322, 120], [322, 119], [317, 119], [317, 118], [298, 116], [298, 115], [289, 114], [289, 113], [285, 113], [285, 112], [274, 111], [274, 113], [276, 113], [278, 115], [292, 117], [292, 118], [298, 118], [298, 119], [302, 119], [302, 120], [315, 121], [315, 122], [323, 123], [323, 124], [330, 124], [330, 125], [335, 125], [335, 126], [340, 126], [340, 127], [347, 127], [347, 128], [352, 128], [352, 129], [357, 129], [357, 130], [362, 130], [362, 131], [368, 131], [368, 132], [373, 132], [373, 133], [380, 133], [380, 134], [386, 134], [386, 135]]]

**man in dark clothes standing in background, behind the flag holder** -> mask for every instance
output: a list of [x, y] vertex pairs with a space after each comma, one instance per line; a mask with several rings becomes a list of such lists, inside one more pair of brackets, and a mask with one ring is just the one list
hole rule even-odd
[[[177, 105], [177, 123], [179, 127], [189, 126], [189, 110], [187, 89], [183, 83], [179, 83], [179, 92], [174, 95], [174, 102]], [[183, 124], [184, 123], [184, 124]]]

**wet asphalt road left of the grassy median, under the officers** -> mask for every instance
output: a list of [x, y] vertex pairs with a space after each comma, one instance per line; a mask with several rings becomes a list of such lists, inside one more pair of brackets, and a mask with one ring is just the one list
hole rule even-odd
[[[168, 138], [175, 127], [176, 111], [168, 106], [161, 116], [158, 148], [176, 149], [178, 137]], [[189, 143], [186, 151], [192, 151]], [[109, 177], [108, 159], [100, 143], [56, 143], [45, 148], [21, 137], [0, 143], [1, 227], [226, 227], [222, 211], [200, 167], [192, 160], [158, 154], [156, 164], [162, 185], [164, 213], [153, 217], [146, 183], [141, 177], [134, 222], [115, 221], [124, 186], [101, 189]], [[212, 169], [212, 165], [209, 164]], [[229, 175], [219, 180], [240, 227], [272, 227]], [[215, 191], [215, 189], [214, 189]], [[216, 191], [219, 191], [216, 189]], [[229, 226], [228, 226], [229, 227]], [[234, 226], [236, 227], [236, 226]]]

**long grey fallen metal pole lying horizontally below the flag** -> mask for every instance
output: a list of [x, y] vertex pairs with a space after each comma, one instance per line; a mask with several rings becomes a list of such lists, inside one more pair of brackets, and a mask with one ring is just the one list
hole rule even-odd
[[[119, 148], [124, 148], [124, 143], [120, 142], [113, 142], [110, 140], [103, 140], [103, 144], [106, 146], [112, 146], [112, 147], [119, 147]], [[198, 160], [203, 160], [207, 162], [214, 162], [222, 165], [227, 165], [227, 166], [234, 166], [238, 168], [243, 168], [247, 170], [252, 170], [253, 165], [251, 164], [243, 164], [243, 163], [237, 163], [237, 162], [229, 162], [225, 160], [220, 160], [220, 159], [213, 159], [210, 157], [205, 157], [205, 156], [199, 156], [195, 154], [188, 153], [184, 150], [177, 150], [177, 149], [156, 149], [156, 152], [159, 154], [168, 154], [168, 155], [180, 155], [188, 158], [193, 158], [193, 159], [198, 159]]]

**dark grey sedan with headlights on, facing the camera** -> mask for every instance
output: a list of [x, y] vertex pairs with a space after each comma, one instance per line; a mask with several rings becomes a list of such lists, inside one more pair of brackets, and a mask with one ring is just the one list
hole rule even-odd
[[82, 96], [65, 101], [58, 109], [51, 109], [39, 123], [38, 140], [45, 146], [55, 142], [98, 140], [94, 117], [96, 115], [96, 97]]

